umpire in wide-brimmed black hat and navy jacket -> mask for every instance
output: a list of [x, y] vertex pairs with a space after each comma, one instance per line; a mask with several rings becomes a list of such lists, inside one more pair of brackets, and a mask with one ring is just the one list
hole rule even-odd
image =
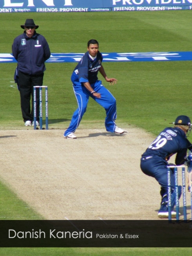
[[[33, 87], [43, 84], [45, 61], [50, 57], [49, 45], [43, 35], [38, 34], [32, 19], [26, 19], [24, 25], [20, 25], [24, 32], [14, 39], [12, 53], [17, 60], [15, 70], [15, 82], [20, 91], [20, 105], [23, 121], [26, 126], [33, 125]], [[32, 97], [32, 108], [30, 99]], [[39, 125], [39, 90], [36, 93], [37, 123]]]

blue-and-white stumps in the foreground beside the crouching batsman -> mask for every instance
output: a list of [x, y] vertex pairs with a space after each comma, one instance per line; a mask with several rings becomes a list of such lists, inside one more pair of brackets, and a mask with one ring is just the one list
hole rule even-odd
[[[190, 161], [192, 162], [192, 160]], [[174, 177], [175, 177], [175, 212], [176, 212], [176, 222], [179, 223], [179, 190], [178, 190], [178, 168], [181, 169], [182, 172], [182, 194], [183, 194], [183, 221], [187, 223], [187, 206], [186, 206], [186, 175], [185, 175], [185, 166], [169, 166], [167, 169], [167, 182], [168, 182], [168, 212], [169, 212], [169, 222], [172, 222], [172, 188], [171, 188], [171, 169], [174, 169]], [[189, 172], [189, 186], [188, 191], [191, 195], [191, 221], [192, 221], [192, 186], [190, 179], [192, 177], [192, 169], [188, 166]]]

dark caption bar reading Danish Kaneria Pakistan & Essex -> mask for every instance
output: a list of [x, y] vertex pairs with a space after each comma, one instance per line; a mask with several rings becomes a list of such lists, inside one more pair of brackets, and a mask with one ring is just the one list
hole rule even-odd
[[191, 221], [0, 221], [0, 247], [191, 247]]

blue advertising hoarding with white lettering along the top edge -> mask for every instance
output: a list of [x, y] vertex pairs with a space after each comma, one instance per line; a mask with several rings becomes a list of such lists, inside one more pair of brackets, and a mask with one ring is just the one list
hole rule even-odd
[[192, 0], [0, 0], [3, 12], [119, 12], [192, 9]]

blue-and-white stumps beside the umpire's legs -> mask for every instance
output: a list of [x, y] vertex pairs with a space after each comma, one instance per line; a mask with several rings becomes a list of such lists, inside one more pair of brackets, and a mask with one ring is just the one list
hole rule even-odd
[[48, 130], [48, 87], [47, 86], [34, 86], [33, 87], [33, 111], [34, 111], [34, 130], [37, 129], [37, 100], [36, 89], [39, 90], [39, 125], [40, 130], [43, 129], [43, 104], [42, 104], [42, 89], [45, 88], [45, 126]]

